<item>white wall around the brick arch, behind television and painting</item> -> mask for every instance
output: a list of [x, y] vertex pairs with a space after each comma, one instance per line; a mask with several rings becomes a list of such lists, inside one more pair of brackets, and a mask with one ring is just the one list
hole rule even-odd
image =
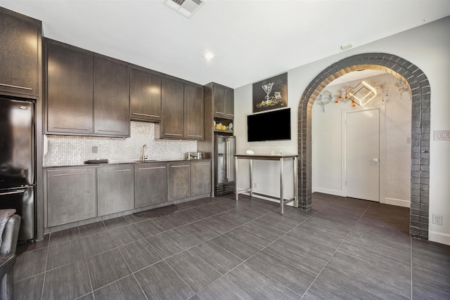
[[[283, 150], [297, 153], [297, 111], [300, 96], [317, 74], [326, 67], [359, 53], [391, 53], [417, 65], [425, 72], [431, 86], [431, 131], [450, 129], [450, 17], [430, 22], [400, 34], [395, 34], [373, 43], [342, 51], [335, 56], [288, 70], [288, 106], [291, 107], [293, 138], [286, 142], [248, 143], [247, 115], [252, 113], [252, 84], [235, 90], [235, 134], [236, 150], [247, 149], [256, 153]], [[333, 45], [330, 45], [333, 46]], [[276, 75], [276, 74], [274, 74]], [[262, 78], [264, 79], [264, 78]], [[450, 142], [430, 141], [430, 240], [450, 244]], [[257, 170], [266, 173], [264, 168]], [[244, 176], [242, 176], [244, 177]], [[238, 185], [245, 186], [245, 178]], [[262, 184], [271, 193], [276, 193], [270, 183]], [[261, 186], [261, 184], [259, 185]], [[314, 203], [313, 203], [314, 205]], [[432, 224], [432, 214], [443, 215], [443, 225]]]

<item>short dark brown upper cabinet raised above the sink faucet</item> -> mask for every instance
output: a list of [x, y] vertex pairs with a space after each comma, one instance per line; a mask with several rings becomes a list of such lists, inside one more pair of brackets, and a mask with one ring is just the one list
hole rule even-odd
[[144, 122], [160, 122], [160, 75], [131, 68], [129, 93], [131, 105], [131, 120]]

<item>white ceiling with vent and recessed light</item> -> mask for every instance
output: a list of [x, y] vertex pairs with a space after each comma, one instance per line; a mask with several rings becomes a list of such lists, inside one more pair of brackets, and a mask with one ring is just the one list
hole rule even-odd
[[[198, 84], [237, 88], [450, 15], [450, 0], [0, 0], [44, 36]], [[212, 51], [210, 61], [203, 55]]]

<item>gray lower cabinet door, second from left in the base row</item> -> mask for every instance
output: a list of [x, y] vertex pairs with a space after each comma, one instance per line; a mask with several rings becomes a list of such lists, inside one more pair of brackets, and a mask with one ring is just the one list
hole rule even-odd
[[134, 209], [134, 165], [97, 168], [97, 216]]

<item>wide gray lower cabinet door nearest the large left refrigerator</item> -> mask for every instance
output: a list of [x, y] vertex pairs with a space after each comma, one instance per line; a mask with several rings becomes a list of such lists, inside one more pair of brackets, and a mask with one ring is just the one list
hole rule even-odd
[[96, 169], [46, 171], [47, 227], [96, 216]]

